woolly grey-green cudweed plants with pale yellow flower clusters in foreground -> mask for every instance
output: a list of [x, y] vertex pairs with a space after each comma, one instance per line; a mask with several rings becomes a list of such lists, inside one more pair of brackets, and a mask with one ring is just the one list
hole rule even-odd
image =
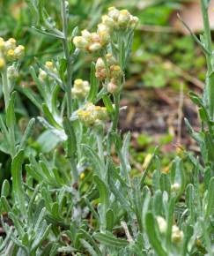
[[[95, 32], [75, 28], [69, 34], [69, 2], [58, 1], [61, 24], [50, 17], [46, 1], [28, 2], [36, 30], [61, 41], [63, 53], [30, 67], [35, 90], [18, 87], [41, 113], [37, 120], [44, 130], [38, 139], [41, 152], [36, 152], [28, 143], [34, 138], [34, 118], [24, 133], [15, 119], [15, 78], [25, 50], [14, 39], [0, 39], [5, 103], [1, 150], [11, 155], [11, 180], [5, 179], [1, 190], [0, 254], [214, 255], [210, 1], [201, 1], [204, 34], [202, 41], [195, 37], [207, 58], [206, 89], [203, 99], [191, 94], [199, 107], [201, 132], [187, 121], [201, 154], [196, 158], [186, 152], [185, 162], [176, 157], [166, 173], [155, 151], [137, 177], [130, 173], [130, 134], [122, 136], [118, 129], [137, 17], [109, 7]], [[73, 71], [80, 52], [92, 57], [87, 79]]]

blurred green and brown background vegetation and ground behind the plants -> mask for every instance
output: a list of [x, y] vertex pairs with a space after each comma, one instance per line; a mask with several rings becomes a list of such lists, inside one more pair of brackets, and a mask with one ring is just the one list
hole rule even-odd
[[[41, 62], [57, 58], [62, 53], [62, 46], [55, 38], [40, 35], [36, 30], [35, 15], [30, 11], [31, 1], [0, 0], [0, 36], [5, 39], [14, 37], [18, 44], [26, 46], [26, 58], [21, 64], [17, 81], [19, 99], [16, 111], [20, 127], [25, 127], [27, 120], [37, 116], [39, 110], [27, 100], [23, 88], [31, 87], [36, 94], [29, 66], [36, 66], [35, 57]], [[34, 1], [36, 3], [36, 0]], [[177, 12], [191, 10], [190, 6], [199, 8], [197, 1], [175, 0], [69, 0], [70, 32], [75, 26], [78, 29], [92, 29], [99, 21], [100, 13], [107, 7], [115, 5], [128, 9], [136, 15], [140, 24], [133, 43], [133, 53], [127, 70], [127, 83], [123, 92], [120, 128], [122, 132], [132, 132], [131, 164], [133, 172], [141, 171], [154, 147], [159, 145], [163, 170], [175, 154], [185, 157], [185, 148], [195, 152], [198, 148], [189, 138], [183, 125], [183, 116], [188, 117], [194, 128], [197, 128], [196, 109], [188, 99], [188, 91], [202, 92], [205, 77], [205, 59], [189, 34], [177, 22]], [[45, 1], [48, 14], [61, 27], [59, 0]], [[193, 4], [190, 5], [189, 4]], [[197, 5], [197, 6], [196, 6]], [[196, 12], [195, 12], [196, 13]], [[213, 15], [214, 16], [214, 15]], [[195, 14], [188, 14], [189, 26], [198, 19]], [[188, 22], [188, 21], [187, 21]], [[194, 28], [196, 33], [200, 27]], [[197, 31], [198, 30], [198, 31]], [[87, 79], [92, 56], [84, 54], [78, 57], [75, 64], [75, 78]], [[79, 69], [81, 67], [81, 69]], [[39, 69], [39, 67], [37, 67]], [[3, 113], [4, 102], [0, 87], [0, 110]], [[41, 127], [38, 124], [38, 134]], [[35, 134], [35, 138], [38, 136]], [[55, 139], [44, 141], [42, 137], [31, 143], [31, 151], [40, 149], [43, 152], [55, 147]], [[9, 160], [0, 141], [0, 162], [4, 172]], [[30, 149], [29, 149], [30, 150]], [[31, 152], [32, 153], [32, 152]]]

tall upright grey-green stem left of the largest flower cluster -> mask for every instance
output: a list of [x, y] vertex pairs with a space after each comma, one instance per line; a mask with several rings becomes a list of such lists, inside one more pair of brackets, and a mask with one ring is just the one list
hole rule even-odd
[[67, 84], [65, 87], [65, 94], [67, 99], [67, 117], [70, 118], [72, 113], [72, 98], [71, 98], [71, 87], [72, 87], [72, 60], [70, 56], [69, 40], [68, 40], [68, 18], [66, 13], [65, 0], [61, 3], [62, 19], [63, 19], [63, 49], [64, 55], [67, 62]]

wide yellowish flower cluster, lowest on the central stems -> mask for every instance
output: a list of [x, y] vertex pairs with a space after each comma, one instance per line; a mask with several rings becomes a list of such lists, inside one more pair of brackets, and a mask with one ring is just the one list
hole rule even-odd
[[105, 107], [95, 106], [91, 102], [85, 105], [84, 109], [77, 110], [79, 120], [85, 126], [92, 127], [103, 124], [107, 121], [107, 109]]

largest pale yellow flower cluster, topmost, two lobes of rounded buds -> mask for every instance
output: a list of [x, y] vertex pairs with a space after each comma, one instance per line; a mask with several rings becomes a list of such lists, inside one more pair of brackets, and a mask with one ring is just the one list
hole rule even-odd
[[119, 11], [115, 7], [110, 7], [108, 14], [102, 16], [102, 22], [98, 24], [97, 32], [90, 33], [85, 29], [80, 36], [74, 37], [73, 43], [77, 49], [95, 52], [107, 45], [114, 29], [135, 28], [137, 22], [137, 17], [132, 16], [129, 11]]

